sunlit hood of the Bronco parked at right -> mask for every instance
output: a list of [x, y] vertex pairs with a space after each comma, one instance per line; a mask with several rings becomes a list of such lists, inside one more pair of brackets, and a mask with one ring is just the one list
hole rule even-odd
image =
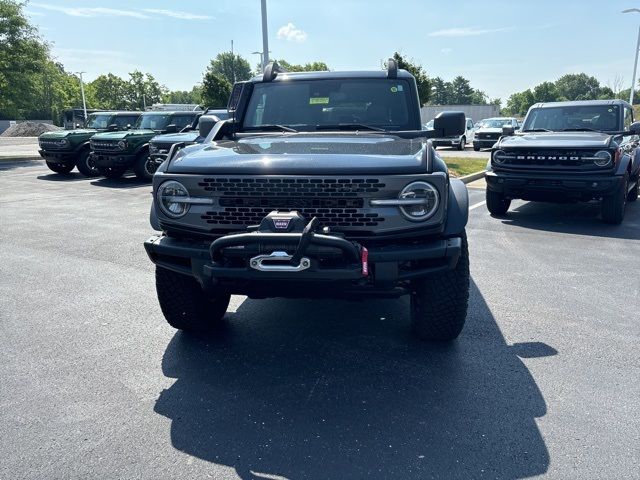
[[498, 148], [608, 148], [611, 135], [600, 132], [540, 132], [502, 137]]

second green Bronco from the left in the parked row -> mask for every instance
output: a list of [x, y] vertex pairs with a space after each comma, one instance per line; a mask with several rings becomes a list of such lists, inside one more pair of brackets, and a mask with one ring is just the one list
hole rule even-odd
[[176, 133], [190, 126], [202, 112], [145, 112], [125, 132], [105, 132], [91, 137], [91, 159], [101, 175], [119, 178], [132, 168], [136, 177], [151, 180], [149, 140], [160, 133]]

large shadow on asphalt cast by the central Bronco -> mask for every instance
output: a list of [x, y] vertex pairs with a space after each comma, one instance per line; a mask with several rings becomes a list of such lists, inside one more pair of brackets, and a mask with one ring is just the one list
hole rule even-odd
[[450, 346], [408, 331], [408, 302], [246, 300], [217, 335], [176, 333], [155, 411], [171, 442], [243, 479], [522, 478], [547, 471], [545, 401], [472, 284]]

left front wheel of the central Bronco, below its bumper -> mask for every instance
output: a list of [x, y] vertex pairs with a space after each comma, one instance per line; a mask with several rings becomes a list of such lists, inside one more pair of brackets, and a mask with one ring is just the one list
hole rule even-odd
[[195, 278], [162, 267], [156, 267], [156, 291], [164, 318], [179, 330], [210, 330], [229, 306], [229, 295], [210, 298]]

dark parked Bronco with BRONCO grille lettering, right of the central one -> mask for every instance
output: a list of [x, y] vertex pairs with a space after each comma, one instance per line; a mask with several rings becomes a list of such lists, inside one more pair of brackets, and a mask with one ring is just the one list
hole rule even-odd
[[519, 134], [494, 145], [487, 208], [504, 215], [511, 200], [601, 202], [602, 219], [622, 222], [638, 198], [640, 122], [623, 100], [533, 105]]

